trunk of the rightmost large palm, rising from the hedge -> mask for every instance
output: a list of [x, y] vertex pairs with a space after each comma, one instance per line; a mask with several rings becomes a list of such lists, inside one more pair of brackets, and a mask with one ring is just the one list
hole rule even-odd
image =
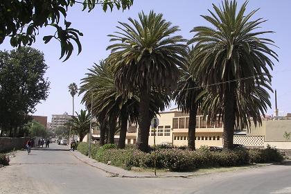
[[233, 149], [233, 131], [236, 122], [236, 85], [234, 82], [229, 83], [226, 87], [224, 98], [224, 127], [223, 127], [223, 148]]

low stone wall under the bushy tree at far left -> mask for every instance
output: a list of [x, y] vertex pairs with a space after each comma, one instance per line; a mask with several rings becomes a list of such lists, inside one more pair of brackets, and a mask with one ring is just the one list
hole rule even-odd
[[0, 137], [0, 152], [10, 151], [13, 150], [13, 148], [24, 148], [28, 139], [28, 137]]

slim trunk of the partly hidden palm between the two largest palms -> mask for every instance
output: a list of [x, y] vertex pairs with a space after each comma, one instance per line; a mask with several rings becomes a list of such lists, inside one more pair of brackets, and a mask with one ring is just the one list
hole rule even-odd
[[198, 106], [195, 105], [189, 112], [188, 149], [195, 150], [196, 115]]

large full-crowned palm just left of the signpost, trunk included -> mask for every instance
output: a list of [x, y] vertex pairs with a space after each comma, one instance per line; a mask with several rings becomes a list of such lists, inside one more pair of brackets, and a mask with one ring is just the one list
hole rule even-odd
[[120, 91], [131, 91], [140, 98], [139, 132], [136, 147], [148, 151], [150, 132], [150, 94], [152, 89], [166, 94], [175, 89], [178, 66], [184, 62], [185, 40], [177, 33], [179, 28], [151, 11], [139, 13], [139, 21], [129, 18], [130, 24], [119, 22], [120, 32], [107, 47], [112, 53], [109, 62], [116, 69], [116, 84]]

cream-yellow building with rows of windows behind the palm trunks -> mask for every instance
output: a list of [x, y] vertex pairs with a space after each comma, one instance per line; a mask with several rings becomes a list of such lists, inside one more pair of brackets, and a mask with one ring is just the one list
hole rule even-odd
[[[162, 112], [157, 116], [159, 118], [159, 126], [156, 130], [156, 144], [168, 144], [174, 146], [188, 145], [188, 114], [183, 114], [178, 109], [170, 109], [168, 112]], [[131, 124], [130, 124], [131, 125]], [[135, 127], [136, 129], [136, 127]], [[136, 141], [137, 132], [127, 133], [127, 142]], [[195, 147], [200, 148], [201, 145], [222, 146], [222, 123], [215, 125], [207, 125], [206, 119], [202, 115], [196, 116], [196, 139]], [[149, 145], [154, 145], [154, 129], [150, 129]]]

